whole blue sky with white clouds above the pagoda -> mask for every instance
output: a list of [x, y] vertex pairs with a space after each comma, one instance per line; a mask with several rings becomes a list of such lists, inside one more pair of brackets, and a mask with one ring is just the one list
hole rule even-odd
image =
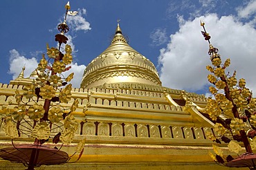
[[[46, 52], [46, 43], [56, 46], [56, 27], [64, 17], [66, 2], [1, 1], [1, 83], [17, 77], [25, 63], [28, 77]], [[68, 17], [76, 87], [85, 66], [109, 46], [116, 20], [121, 19], [130, 46], [155, 64], [163, 86], [207, 93], [205, 66], [210, 60], [201, 19], [223, 60], [230, 57], [230, 73], [237, 70], [237, 76], [245, 77], [248, 87], [256, 91], [256, 1], [80, 0], [70, 4], [71, 10], [79, 12]]]

